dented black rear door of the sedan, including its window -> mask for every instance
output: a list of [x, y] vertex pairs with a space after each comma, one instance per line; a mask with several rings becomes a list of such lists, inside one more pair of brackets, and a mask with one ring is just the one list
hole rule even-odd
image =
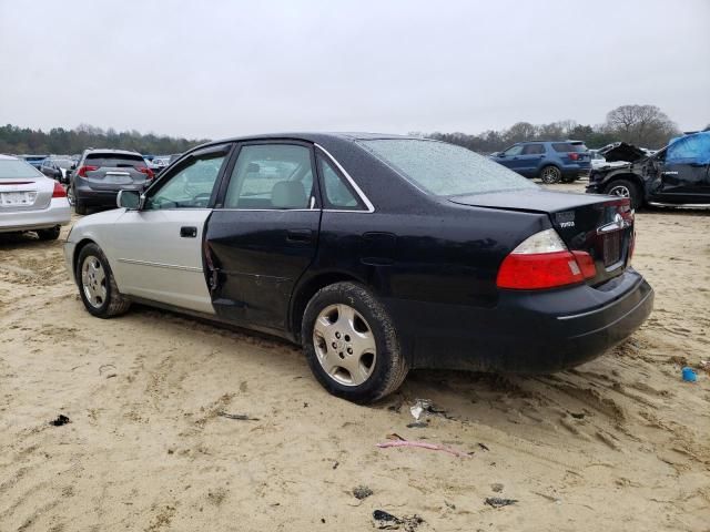
[[205, 236], [216, 314], [256, 329], [287, 329], [291, 294], [315, 257], [320, 224], [313, 146], [242, 144]]

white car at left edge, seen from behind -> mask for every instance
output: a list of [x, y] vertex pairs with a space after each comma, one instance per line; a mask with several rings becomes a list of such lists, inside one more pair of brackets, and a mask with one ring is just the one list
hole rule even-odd
[[59, 237], [71, 211], [64, 187], [31, 164], [0, 155], [0, 233], [33, 231], [42, 241]]

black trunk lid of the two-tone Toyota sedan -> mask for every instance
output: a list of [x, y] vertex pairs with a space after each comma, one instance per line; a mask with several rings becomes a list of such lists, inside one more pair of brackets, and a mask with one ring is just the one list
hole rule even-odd
[[570, 250], [591, 255], [599, 285], [623, 273], [633, 246], [633, 211], [628, 198], [562, 192], [515, 191], [449, 198], [458, 205], [542, 213]]

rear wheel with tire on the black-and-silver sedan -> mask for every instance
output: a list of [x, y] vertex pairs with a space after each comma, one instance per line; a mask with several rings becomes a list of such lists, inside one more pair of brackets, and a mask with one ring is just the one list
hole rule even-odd
[[409, 370], [392, 317], [355, 283], [318, 290], [306, 306], [301, 337], [318, 382], [353, 402], [368, 403], [392, 393]]

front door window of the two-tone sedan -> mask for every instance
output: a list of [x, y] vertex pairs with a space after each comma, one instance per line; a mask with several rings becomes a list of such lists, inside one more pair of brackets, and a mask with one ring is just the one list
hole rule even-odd
[[144, 208], [206, 207], [224, 160], [225, 155], [191, 160], [151, 191]]

